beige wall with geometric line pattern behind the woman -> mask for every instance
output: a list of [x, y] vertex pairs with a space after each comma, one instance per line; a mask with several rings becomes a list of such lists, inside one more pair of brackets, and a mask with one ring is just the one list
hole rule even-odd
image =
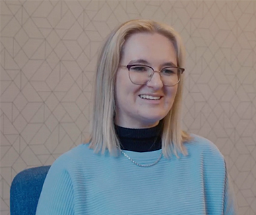
[[184, 130], [226, 159], [239, 214], [256, 214], [256, 1], [1, 1], [1, 214], [28, 167], [88, 137], [98, 47], [129, 19], [170, 24], [187, 49]]

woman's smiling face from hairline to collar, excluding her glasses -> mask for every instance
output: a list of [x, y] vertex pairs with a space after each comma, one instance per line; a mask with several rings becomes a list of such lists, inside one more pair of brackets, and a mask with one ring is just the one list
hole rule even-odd
[[[146, 64], [160, 71], [163, 67], [177, 66], [172, 42], [161, 34], [133, 34], [123, 48], [121, 65]], [[125, 128], [156, 126], [172, 108], [177, 86], [164, 86], [159, 73], [144, 85], [135, 85], [129, 79], [126, 67], [119, 67], [115, 83], [115, 124]]]

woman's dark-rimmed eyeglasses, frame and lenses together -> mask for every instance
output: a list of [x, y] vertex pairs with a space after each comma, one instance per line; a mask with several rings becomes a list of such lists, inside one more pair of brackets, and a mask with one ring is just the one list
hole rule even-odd
[[177, 85], [181, 81], [181, 74], [185, 69], [181, 67], [164, 67], [160, 71], [154, 71], [154, 69], [147, 65], [142, 64], [131, 64], [131, 65], [121, 65], [120, 67], [125, 67], [129, 71], [129, 79], [135, 85], [144, 85], [150, 81], [154, 73], [160, 73], [160, 77], [163, 85], [172, 87]]

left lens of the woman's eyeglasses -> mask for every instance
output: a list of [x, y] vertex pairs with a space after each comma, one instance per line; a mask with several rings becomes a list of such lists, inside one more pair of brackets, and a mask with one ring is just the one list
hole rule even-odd
[[150, 81], [153, 69], [143, 65], [131, 66], [129, 69], [129, 77], [132, 83], [143, 85]]

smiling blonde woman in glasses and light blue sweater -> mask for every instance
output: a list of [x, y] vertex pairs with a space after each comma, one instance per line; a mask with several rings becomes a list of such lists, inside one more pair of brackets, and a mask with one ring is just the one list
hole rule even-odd
[[226, 165], [181, 130], [184, 47], [172, 28], [122, 24], [99, 56], [92, 134], [53, 163], [40, 214], [235, 214]]

